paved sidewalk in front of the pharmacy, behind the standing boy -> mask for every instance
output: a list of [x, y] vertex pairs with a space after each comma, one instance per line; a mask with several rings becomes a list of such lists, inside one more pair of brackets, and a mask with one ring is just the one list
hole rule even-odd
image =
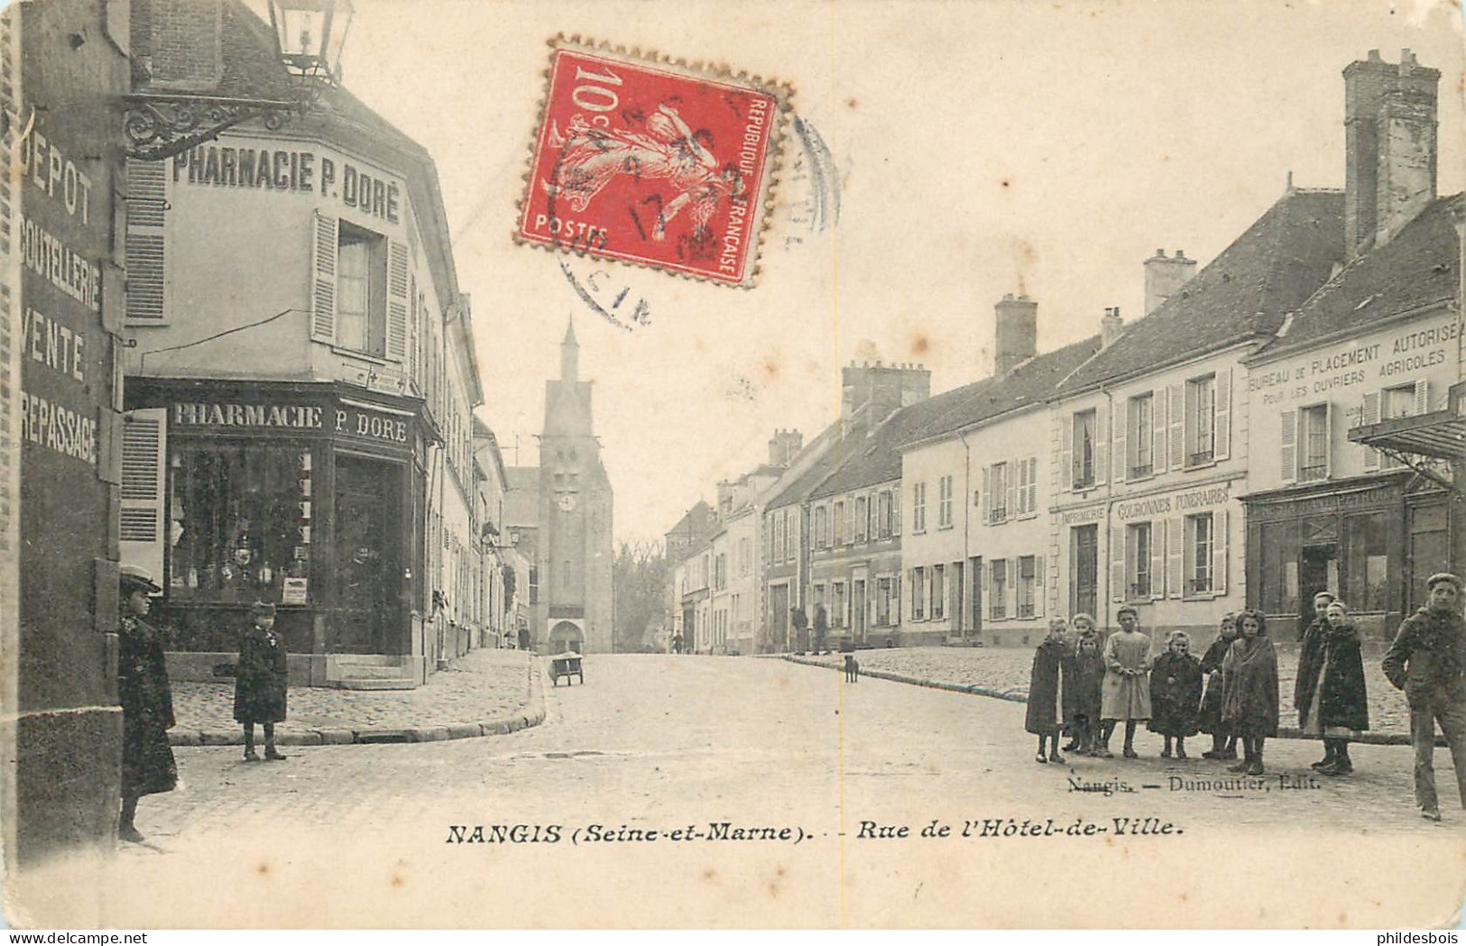
[[[539, 660], [520, 650], [474, 650], [416, 690], [292, 687], [276, 725], [281, 745], [431, 742], [513, 732], [544, 722]], [[235, 684], [176, 682], [173, 745], [239, 745]], [[258, 732], [258, 731], [257, 731]]]

